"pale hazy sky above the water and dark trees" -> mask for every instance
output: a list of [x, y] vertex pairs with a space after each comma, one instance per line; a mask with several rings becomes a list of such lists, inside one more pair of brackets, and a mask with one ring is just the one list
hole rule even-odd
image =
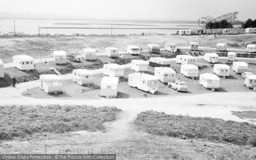
[[[106, 20], [198, 20], [239, 12], [256, 19], [256, 0], [0, 0], [0, 12]], [[3, 15], [2, 15], [3, 16]]]

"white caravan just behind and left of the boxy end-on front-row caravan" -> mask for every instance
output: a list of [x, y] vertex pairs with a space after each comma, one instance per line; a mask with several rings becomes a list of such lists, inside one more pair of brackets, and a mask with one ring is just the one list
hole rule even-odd
[[94, 73], [90, 70], [85, 70], [85, 69], [77, 69], [73, 70], [73, 76], [77, 84], [82, 85], [87, 85], [87, 84], [93, 84], [94, 82]]

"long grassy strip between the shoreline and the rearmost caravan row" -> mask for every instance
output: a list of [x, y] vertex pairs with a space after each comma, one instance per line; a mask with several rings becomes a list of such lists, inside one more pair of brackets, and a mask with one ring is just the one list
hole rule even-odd
[[[149, 43], [175, 42], [180, 46], [196, 41], [201, 47], [215, 47], [217, 43], [227, 43], [231, 48], [246, 48], [246, 44], [256, 41], [254, 35], [226, 35], [215, 39], [212, 35], [199, 36], [127, 36], [127, 37], [6, 37], [0, 39], [0, 58], [4, 63], [12, 61], [13, 55], [28, 54], [39, 58], [39, 53], [49, 55], [49, 49], [65, 50], [69, 53], [81, 54], [83, 48], [95, 48], [104, 52], [106, 47], [117, 47], [126, 51], [128, 45], [142, 45], [146, 49]], [[43, 44], [56, 44], [43, 46]], [[80, 44], [80, 45], [77, 45]], [[68, 46], [69, 45], [69, 46]]]

